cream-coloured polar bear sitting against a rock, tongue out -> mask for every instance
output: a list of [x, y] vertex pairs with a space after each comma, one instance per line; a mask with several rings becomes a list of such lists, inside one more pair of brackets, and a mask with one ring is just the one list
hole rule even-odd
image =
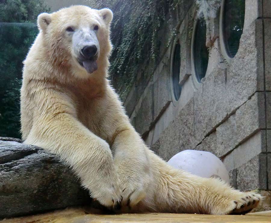
[[107, 80], [110, 9], [63, 8], [38, 17], [23, 67], [24, 143], [53, 152], [91, 197], [121, 212], [241, 214], [261, 196], [170, 167], [145, 145]]

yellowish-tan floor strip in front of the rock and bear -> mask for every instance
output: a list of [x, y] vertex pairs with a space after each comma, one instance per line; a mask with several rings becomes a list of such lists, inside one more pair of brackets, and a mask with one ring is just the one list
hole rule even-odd
[[4, 219], [1, 223], [195, 223], [195, 222], [269, 222], [271, 223], [271, 211], [257, 212], [247, 215], [198, 215], [198, 214], [119, 214], [98, 215], [86, 214], [83, 208], [70, 208], [45, 214], [26, 216], [13, 219]]

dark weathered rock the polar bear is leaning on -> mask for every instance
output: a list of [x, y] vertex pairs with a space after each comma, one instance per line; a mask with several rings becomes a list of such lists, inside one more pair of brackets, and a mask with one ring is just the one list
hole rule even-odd
[[0, 141], [0, 218], [89, 203], [60, 159], [36, 146]]

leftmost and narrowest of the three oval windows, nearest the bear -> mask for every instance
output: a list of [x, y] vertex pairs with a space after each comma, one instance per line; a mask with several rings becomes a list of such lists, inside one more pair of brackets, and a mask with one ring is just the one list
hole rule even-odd
[[182, 91], [182, 87], [179, 84], [180, 67], [181, 67], [181, 46], [179, 44], [179, 41], [177, 41], [174, 49], [172, 64], [172, 85], [174, 98], [176, 101], [179, 100]]

